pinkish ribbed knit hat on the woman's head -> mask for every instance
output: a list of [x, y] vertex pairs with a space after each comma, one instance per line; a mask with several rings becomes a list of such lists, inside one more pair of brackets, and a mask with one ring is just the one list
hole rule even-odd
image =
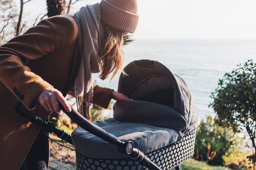
[[101, 0], [101, 20], [124, 32], [134, 33], [138, 24], [136, 0]]

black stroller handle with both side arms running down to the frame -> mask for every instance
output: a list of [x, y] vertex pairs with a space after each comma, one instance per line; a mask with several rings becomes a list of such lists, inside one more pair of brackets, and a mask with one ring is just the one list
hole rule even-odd
[[[89, 120], [85, 119], [81, 114], [79, 114], [75, 110], [71, 110], [71, 112], [67, 112], [63, 105], [58, 102], [61, 110], [63, 110], [66, 115], [72, 119], [78, 126], [82, 127], [83, 129], [87, 130], [91, 134], [100, 137], [101, 139], [109, 142], [110, 144], [115, 144], [118, 146], [119, 152], [126, 153], [130, 156], [131, 159], [142, 162], [144, 166], [149, 168], [150, 170], [161, 170], [154, 162], [150, 161], [146, 155], [140, 152], [137, 148], [133, 147], [133, 143], [131, 141], [125, 142], [119, 140], [117, 136], [110, 134], [109, 132], [105, 131], [103, 128], [98, 127], [97, 125], [91, 123]], [[47, 132], [54, 132], [58, 137], [67, 141], [70, 144], [73, 144], [71, 136], [63, 131], [62, 129], [58, 129], [55, 127], [55, 124], [52, 122], [46, 122], [43, 119], [39, 118], [36, 115], [33, 115], [28, 110], [24, 109], [22, 103], [16, 100], [14, 104], [14, 109], [18, 112], [21, 116], [29, 119], [30, 121], [36, 123], [40, 127], [44, 128]]]

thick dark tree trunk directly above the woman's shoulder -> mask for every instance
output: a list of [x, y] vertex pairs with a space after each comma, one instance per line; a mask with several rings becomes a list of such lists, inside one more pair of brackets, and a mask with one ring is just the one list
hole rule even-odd
[[65, 13], [65, 0], [46, 0], [46, 4], [48, 17], [62, 15]]

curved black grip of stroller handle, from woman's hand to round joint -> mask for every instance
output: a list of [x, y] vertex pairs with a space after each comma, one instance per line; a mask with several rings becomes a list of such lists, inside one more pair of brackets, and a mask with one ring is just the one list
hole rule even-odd
[[106, 132], [103, 128], [91, 123], [89, 120], [85, 119], [75, 110], [72, 109], [71, 112], [67, 112], [60, 102], [58, 102], [58, 104], [61, 110], [63, 110], [70, 119], [72, 119], [78, 126], [87, 130], [91, 134], [100, 137], [101, 139], [109, 142], [110, 144], [116, 144], [119, 147], [122, 147], [125, 144], [123, 141], [119, 140], [117, 136], [114, 136], [109, 132]]

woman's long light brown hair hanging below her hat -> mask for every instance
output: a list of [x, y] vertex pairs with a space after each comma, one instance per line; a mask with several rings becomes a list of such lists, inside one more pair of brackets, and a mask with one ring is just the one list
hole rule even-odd
[[121, 68], [124, 60], [123, 55], [123, 35], [124, 32], [116, 28], [103, 25], [103, 38], [101, 40], [101, 75], [102, 80], [106, 79], [110, 73], [113, 75], [111, 79], [117, 74]]

